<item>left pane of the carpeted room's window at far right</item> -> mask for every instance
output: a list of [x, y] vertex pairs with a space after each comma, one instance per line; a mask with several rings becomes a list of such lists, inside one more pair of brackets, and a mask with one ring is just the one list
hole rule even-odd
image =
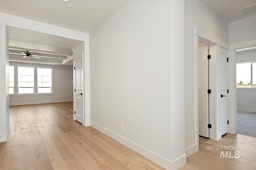
[[251, 87], [251, 63], [236, 64], [236, 87]]

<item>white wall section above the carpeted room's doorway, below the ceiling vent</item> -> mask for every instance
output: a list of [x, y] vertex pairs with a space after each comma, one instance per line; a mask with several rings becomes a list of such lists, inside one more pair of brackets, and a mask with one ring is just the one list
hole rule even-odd
[[256, 39], [256, 16], [250, 16], [228, 24], [229, 43]]

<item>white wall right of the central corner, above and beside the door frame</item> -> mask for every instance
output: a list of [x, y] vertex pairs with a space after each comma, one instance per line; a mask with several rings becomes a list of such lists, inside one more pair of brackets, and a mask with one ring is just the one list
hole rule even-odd
[[186, 154], [196, 152], [192, 130], [196, 130], [196, 68], [194, 27], [228, 42], [228, 23], [197, 0], [185, 1], [185, 139]]

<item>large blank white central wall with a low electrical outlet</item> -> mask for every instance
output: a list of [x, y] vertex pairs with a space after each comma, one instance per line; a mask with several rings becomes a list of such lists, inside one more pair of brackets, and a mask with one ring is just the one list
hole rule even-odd
[[90, 34], [91, 125], [168, 169], [184, 156], [183, 15], [182, 1], [131, 1]]

